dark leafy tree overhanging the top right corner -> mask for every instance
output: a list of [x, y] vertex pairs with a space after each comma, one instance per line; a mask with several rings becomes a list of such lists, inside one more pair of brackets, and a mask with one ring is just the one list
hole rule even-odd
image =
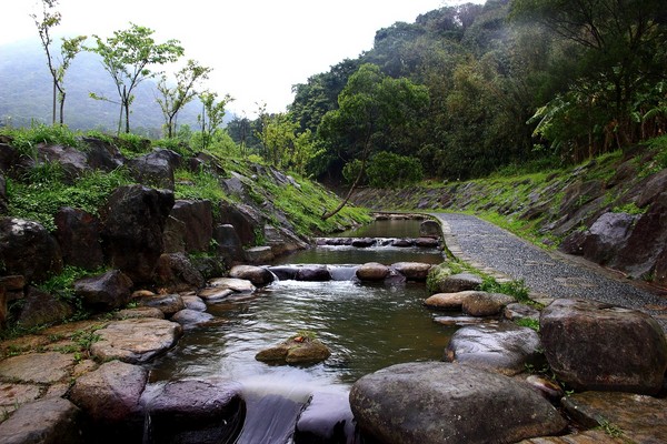
[[667, 60], [658, 56], [667, 44], [667, 2], [514, 0], [512, 17], [538, 21], [577, 48], [577, 99], [560, 97], [554, 107], [586, 114], [598, 137], [606, 131], [618, 145], [634, 142], [638, 94], [665, 78]]

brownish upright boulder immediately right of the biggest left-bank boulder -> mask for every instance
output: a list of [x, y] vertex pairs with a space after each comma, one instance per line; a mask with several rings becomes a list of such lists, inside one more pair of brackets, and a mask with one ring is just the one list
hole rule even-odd
[[213, 216], [211, 201], [178, 200], [171, 209], [171, 218], [186, 225], [186, 252], [205, 252], [211, 245], [213, 236]]

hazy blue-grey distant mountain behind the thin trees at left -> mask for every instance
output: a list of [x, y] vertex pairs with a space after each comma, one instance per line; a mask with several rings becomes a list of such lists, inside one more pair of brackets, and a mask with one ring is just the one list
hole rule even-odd
[[[27, 127], [32, 121], [51, 122], [52, 80], [39, 41], [22, 41], [0, 47], [0, 124]], [[67, 102], [64, 123], [72, 130], [118, 128], [119, 105], [93, 100], [90, 92], [117, 97], [113, 81], [100, 58], [91, 52], [78, 54], [64, 79]], [[161, 135], [165, 123], [156, 101], [156, 83], [147, 80], [137, 89], [132, 103], [132, 132], [145, 137]], [[197, 125], [201, 105], [191, 102], [179, 113], [179, 124]]]

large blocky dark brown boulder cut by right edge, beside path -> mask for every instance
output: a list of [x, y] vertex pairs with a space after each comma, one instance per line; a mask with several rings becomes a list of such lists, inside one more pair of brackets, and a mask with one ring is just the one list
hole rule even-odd
[[540, 317], [545, 354], [559, 381], [576, 390], [655, 394], [667, 370], [667, 341], [647, 314], [559, 299]]

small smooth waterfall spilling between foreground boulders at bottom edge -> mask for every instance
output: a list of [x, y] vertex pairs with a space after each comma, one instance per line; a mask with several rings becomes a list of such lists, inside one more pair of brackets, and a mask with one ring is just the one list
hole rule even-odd
[[243, 382], [246, 420], [235, 444], [290, 443], [311, 390], [298, 383], [276, 384], [265, 379]]

